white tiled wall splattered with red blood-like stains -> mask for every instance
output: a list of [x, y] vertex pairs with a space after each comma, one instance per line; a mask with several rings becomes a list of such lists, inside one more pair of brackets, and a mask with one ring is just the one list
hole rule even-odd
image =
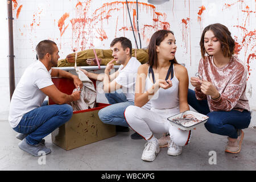
[[[16, 2], [18, 4], [13, 10], [16, 83], [27, 65], [35, 61], [35, 46], [43, 39], [51, 39], [57, 43], [61, 59], [73, 52], [73, 49], [78, 51], [93, 47], [108, 49], [110, 42], [118, 36], [126, 36], [135, 47], [126, 4], [122, 3], [125, 1], [16, 0]], [[205, 10], [199, 16], [198, 13], [202, 6], [205, 7]], [[246, 6], [249, 7], [249, 10], [246, 9]], [[129, 3], [129, 8], [131, 19], [136, 23], [136, 16], [133, 16], [135, 3]], [[18, 9], [20, 9], [20, 13], [17, 18]], [[247, 13], [244, 12], [246, 10], [254, 13], [249, 13], [247, 17]], [[187, 24], [185, 24], [186, 21]], [[255, 45], [255, 2], [253, 0], [225, 2], [220, 0], [170, 0], [163, 5], [154, 6], [148, 4], [146, 0], [139, 0], [139, 32], [142, 47], [147, 46], [151, 35], [156, 30], [167, 26], [175, 33], [178, 47], [176, 59], [179, 63], [185, 63], [190, 77], [197, 72], [200, 60], [201, 32], [205, 26], [216, 22], [228, 26], [233, 38], [237, 37], [237, 43], [245, 45], [242, 46], [238, 56], [251, 69], [249, 70], [247, 96], [250, 106], [255, 109], [256, 85], [252, 81], [256, 74], [255, 57], [254, 59], [251, 57], [247, 64], [250, 53], [255, 53], [255, 47], [253, 48]], [[246, 31], [243, 31], [245, 28]], [[254, 35], [251, 36], [251, 39], [250, 36], [246, 36], [243, 42], [243, 36], [250, 31], [254, 31]], [[137, 40], [139, 40], [138, 35]], [[5, 65], [5, 69], [7, 70], [7, 65]], [[2, 79], [7, 80], [5, 72], [0, 73], [0, 80]], [[1, 100], [5, 101], [3, 103], [5, 107], [1, 108], [0, 115], [9, 107], [8, 86], [5, 86], [8, 92], [0, 96]]]

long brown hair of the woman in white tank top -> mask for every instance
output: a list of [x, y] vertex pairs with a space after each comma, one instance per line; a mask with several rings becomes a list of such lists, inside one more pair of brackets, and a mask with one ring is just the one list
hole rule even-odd
[[[170, 30], [159, 30], [156, 31], [150, 39], [150, 43], [148, 45], [148, 62], [147, 64], [150, 65], [150, 67], [158, 67], [158, 56], [156, 53], [156, 46], [159, 46], [160, 43], [164, 40], [164, 38], [166, 38], [166, 36], [168, 36], [168, 34], [172, 34], [174, 35], [174, 32], [170, 31]], [[176, 58], [174, 57], [173, 60], [174, 63], [177, 63]]]

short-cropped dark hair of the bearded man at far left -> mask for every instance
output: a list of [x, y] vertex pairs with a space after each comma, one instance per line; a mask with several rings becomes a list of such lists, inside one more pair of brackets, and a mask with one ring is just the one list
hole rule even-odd
[[53, 45], [57, 46], [57, 44], [52, 40], [42, 40], [41, 42], [39, 42], [36, 46], [36, 55], [38, 56], [38, 58], [43, 59], [47, 53], [52, 55], [55, 51]]

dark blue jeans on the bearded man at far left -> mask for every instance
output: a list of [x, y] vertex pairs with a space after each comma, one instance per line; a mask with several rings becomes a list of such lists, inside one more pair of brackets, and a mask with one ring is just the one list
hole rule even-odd
[[57, 127], [67, 122], [73, 114], [72, 106], [47, 105], [43, 102], [41, 107], [24, 114], [14, 130], [18, 133], [28, 134], [28, 144], [38, 144], [44, 137], [52, 133]]

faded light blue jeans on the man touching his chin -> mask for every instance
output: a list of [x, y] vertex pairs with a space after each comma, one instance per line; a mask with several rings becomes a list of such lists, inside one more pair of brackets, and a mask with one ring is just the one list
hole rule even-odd
[[129, 126], [126, 122], [125, 109], [130, 105], [134, 105], [134, 102], [127, 101], [126, 96], [123, 93], [105, 93], [106, 98], [109, 101], [110, 106], [106, 106], [98, 111], [98, 117], [102, 122], [109, 125]]

